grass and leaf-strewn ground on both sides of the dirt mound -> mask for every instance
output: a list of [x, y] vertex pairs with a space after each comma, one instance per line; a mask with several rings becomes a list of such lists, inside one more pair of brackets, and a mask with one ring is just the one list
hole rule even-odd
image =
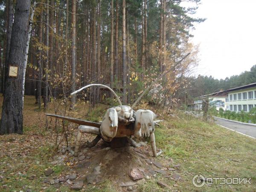
[[[0, 191], [26, 191], [28, 188], [31, 188], [32, 191], [45, 192], [56, 191], [56, 189], [70, 191], [63, 184], [57, 188], [54, 185], [42, 183], [45, 177], [44, 170], [48, 167], [54, 169], [51, 178], [59, 177], [61, 174], [67, 175], [70, 172], [70, 167], [64, 164], [53, 166], [50, 163], [54, 160], [54, 156], [59, 155], [52, 145], [55, 138], [53, 129], [46, 131], [42, 126], [44, 121], [41, 124], [36, 121], [31, 122], [30, 119], [36, 119], [38, 113], [31, 112], [36, 107], [32, 99], [26, 98], [31, 101], [27, 112], [27, 106], [24, 106], [24, 116], [27, 118], [24, 123], [24, 134], [0, 136], [0, 176], [3, 176], [3, 179], [0, 179]], [[83, 114], [80, 113], [79, 109], [74, 112], [74, 116], [77, 113], [81, 119], [98, 121], [101, 120], [107, 107], [107, 105], [99, 105], [97, 110], [87, 111]], [[32, 115], [35, 116], [32, 118]], [[43, 114], [41, 115], [43, 116]], [[256, 191], [256, 140], [192, 116], [179, 115], [177, 118], [164, 116], [160, 119], [164, 119], [164, 121], [159, 127], [156, 127], [155, 137], [157, 148], [163, 150], [163, 155], [156, 159], [165, 167], [181, 164], [180, 169], [177, 169], [175, 173], [179, 174], [182, 179], [177, 181], [178, 186], [174, 187], [174, 180], [157, 174], [156, 177], [146, 180], [144, 185], [137, 186], [138, 192], [167, 190], [184, 192]], [[70, 134], [72, 139], [75, 138], [73, 135]], [[197, 174], [205, 177], [252, 177], [252, 184], [212, 184], [196, 188], [192, 185], [192, 177]], [[36, 175], [36, 178], [31, 178], [32, 175]], [[161, 188], [157, 185], [158, 180], [167, 183], [171, 189]], [[7, 186], [3, 188], [3, 185]], [[96, 186], [86, 185], [84, 189], [87, 192], [116, 192], [121, 190], [126, 191], [126, 188], [120, 189], [114, 180], [105, 180]]]

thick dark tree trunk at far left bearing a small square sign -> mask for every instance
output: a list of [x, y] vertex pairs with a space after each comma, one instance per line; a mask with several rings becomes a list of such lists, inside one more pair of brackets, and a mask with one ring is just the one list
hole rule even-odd
[[17, 1], [9, 50], [9, 64], [18, 67], [17, 77], [7, 77], [0, 134], [23, 133], [23, 69], [28, 36], [30, 0]]

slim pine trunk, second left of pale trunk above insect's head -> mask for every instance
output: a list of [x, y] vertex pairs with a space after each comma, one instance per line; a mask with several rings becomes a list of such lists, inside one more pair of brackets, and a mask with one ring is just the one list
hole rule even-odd
[[[113, 89], [113, 81], [114, 81], [114, 75], [113, 75], [113, 66], [114, 66], [114, 59], [113, 59], [113, 52], [114, 52], [114, 3], [113, 0], [111, 0], [111, 37], [110, 37], [110, 46], [111, 46], [111, 52], [110, 52], [110, 88]], [[111, 98], [113, 98], [113, 93], [110, 93]]]

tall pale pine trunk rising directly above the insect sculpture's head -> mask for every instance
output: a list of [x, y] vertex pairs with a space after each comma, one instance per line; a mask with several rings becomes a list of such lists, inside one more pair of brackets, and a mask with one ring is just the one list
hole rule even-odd
[[127, 96], [126, 96], [126, 35], [125, 35], [125, 0], [122, 0], [122, 88], [123, 88], [123, 102], [126, 104]]

